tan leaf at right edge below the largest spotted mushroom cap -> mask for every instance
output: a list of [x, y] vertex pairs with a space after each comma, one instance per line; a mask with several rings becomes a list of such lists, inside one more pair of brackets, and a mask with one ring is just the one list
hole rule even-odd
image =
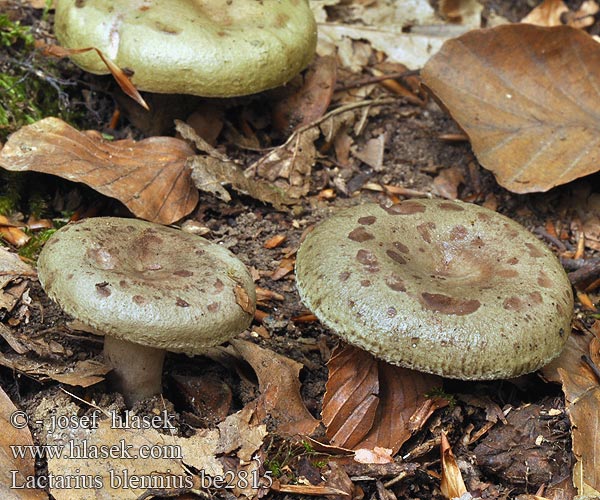
[[558, 373], [572, 425], [573, 454], [577, 459], [573, 483], [580, 495], [600, 495], [600, 385], [581, 362], [569, 370], [559, 368]]

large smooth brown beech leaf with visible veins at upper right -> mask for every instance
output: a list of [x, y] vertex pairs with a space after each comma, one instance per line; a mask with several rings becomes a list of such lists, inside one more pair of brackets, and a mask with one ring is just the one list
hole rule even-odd
[[447, 41], [422, 78], [505, 188], [547, 191], [600, 169], [600, 45], [586, 33], [471, 31]]

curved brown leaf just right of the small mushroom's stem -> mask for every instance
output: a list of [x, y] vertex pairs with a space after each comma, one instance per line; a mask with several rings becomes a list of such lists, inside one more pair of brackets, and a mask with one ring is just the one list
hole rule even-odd
[[235, 339], [231, 344], [258, 377], [257, 418], [262, 421], [272, 417], [276, 432], [282, 435], [312, 434], [319, 421], [306, 409], [300, 395], [302, 365], [252, 342]]

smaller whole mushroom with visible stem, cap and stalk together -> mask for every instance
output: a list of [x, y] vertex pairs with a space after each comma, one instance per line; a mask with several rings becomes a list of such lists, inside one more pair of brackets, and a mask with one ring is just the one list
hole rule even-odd
[[104, 357], [128, 405], [161, 392], [166, 351], [200, 354], [254, 315], [252, 278], [229, 250], [141, 220], [64, 226], [44, 246], [38, 274], [66, 313], [104, 333]]

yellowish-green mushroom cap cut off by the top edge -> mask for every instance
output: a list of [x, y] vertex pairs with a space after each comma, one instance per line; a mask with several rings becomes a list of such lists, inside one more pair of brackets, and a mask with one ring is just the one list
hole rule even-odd
[[[96, 47], [131, 70], [140, 90], [205, 97], [286, 83], [317, 40], [307, 0], [57, 0], [54, 30], [64, 47]], [[108, 73], [94, 51], [71, 58]]]

